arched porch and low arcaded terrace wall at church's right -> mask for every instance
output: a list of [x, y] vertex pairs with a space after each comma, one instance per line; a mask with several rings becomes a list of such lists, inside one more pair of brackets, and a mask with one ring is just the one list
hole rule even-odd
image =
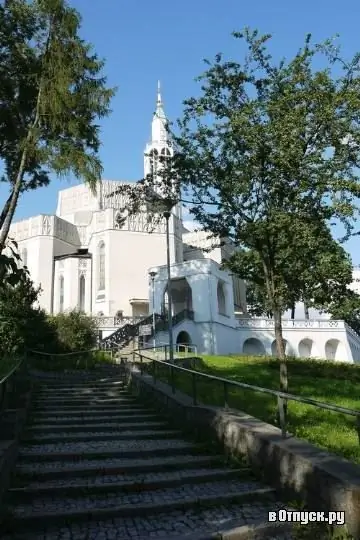
[[[159, 313], [166, 267], [152, 270], [156, 278], [149, 297], [153, 295], [155, 312]], [[173, 265], [171, 283], [173, 315], [184, 309], [191, 309], [194, 315], [193, 320], [181, 320], [174, 327], [174, 343], [196, 345], [197, 352], [203, 354], [276, 355], [274, 321], [250, 319], [246, 313], [235, 317], [232, 278], [220, 270], [217, 262], [197, 259]], [[282, 327], [288, 355], [360, 363], [360, 337], [344, 321], [330, 320], [328, 316], [284, 318]], [[168, 343], [167, 333], [159, 332], [156, 341]]]

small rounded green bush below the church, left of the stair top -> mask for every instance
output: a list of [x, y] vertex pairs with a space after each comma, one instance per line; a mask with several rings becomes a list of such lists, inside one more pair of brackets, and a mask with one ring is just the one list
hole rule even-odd
[[97, 325], [93, 317], [72, 310], [59, 313], [49, 321], [56, 332], [59, 352], [88, 351], [95, 347]]

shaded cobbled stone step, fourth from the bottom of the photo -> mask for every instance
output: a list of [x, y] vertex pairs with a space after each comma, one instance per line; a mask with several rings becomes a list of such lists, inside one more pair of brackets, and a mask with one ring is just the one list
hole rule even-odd
[[17, 478], [55, 480], [74, 476], [94, 476], [108, 474], [135, 474], [147, 472], [188, 470], [198, 467], [219, 467], [223, 464], [221, 455], [192, 455], [133, 458], [107, 458], [88, 460], [80, 457], [77, 461], [21, 462], [15, 469]]

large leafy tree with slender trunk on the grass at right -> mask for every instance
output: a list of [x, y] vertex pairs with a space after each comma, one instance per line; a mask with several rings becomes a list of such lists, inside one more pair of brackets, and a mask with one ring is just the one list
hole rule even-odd
[[[332, 41], [312, 45], [308, 36], [294, 58], [277, 63], [271, 36], [246, 29], [234, 37], [247, 55], [241, 64], [221, 54], [207, 61], [200, 97], [185, 102], [173, 168], [195, 219], [241, 248], [240, 275], [262, 282], [286, 390], [287, 278], [299, 290], [317, 223], [340, 220], [350, 235], [358, 212], [360, 56], [346, 62]], [[323, 69], [313, 67], [316, 56]]]

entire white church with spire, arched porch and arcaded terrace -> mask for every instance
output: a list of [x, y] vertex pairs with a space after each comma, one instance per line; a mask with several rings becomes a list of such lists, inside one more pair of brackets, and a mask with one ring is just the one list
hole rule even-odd
[[[158, 88], [144, 177], [159, 156], [172, 155], [166, 122]], [[124, 325], [166, 312], [165, 220], [154, 226], [144, 212], [120, 222], [121, 184], [103, 180], [96, 194], [83, 184], [61, 190], [54, 215], [13, 223], [9, 233], [42, 287], [41, 307], [51, 314], [74, 308], [92, 314], [108, 340]], [[185, 225], [175, 206], [169, 219], [174, 343], [208, 354], [274, 354], [273, 321], [250, 318], [245, 284], [221, 270], [229, 246], [209, 251], [207, 234]], [[360, 362], [360, 337], [346, 323], [316, 313], [301, 317], [283, 320], [288, 354]], [[160, 329], [155, 339], [168, 342], [167, 332]]]

